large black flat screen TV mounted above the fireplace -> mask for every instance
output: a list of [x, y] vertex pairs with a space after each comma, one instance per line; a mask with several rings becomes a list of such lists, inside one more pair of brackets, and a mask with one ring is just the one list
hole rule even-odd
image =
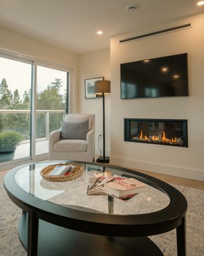
[[121, 99], [189, 96], [187, 53], [120, 65]]

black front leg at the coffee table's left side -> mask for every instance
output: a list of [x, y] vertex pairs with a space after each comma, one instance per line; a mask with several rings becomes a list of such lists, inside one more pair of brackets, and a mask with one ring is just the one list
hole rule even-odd
[[37, 255], [39, 219], [36, 212], [28, 211], [28, 256]]

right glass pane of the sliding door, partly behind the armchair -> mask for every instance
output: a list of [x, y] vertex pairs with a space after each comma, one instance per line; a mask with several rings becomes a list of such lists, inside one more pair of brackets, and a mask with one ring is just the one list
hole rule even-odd
[[48, 153], [52, 130], [60, 128], [68, 106], [68, 73], [37, 65], [35, 154]]

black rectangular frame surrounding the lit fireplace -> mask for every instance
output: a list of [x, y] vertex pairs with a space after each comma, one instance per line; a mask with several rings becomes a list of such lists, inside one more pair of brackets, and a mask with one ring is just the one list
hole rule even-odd
[[[184, 145], [178, 144], [165, 144], [165, 143], [158, 143], [158, 142], [146, 142], [141, 140], [133, 140], [131, 139], [131, 128], [130, 123], [131, 121], [138, 121], [138, 122], [182, 122], [182, 130], [184, 135]], [[146, 144], [157, 144], [157, 145], [166, 145], [166, 146], [173, 146], [173, 147], [182, 147], [188, 148], [188, 136], [187, 136], [187, 119], [154, 119], [154, 118], [124, 118], [124, 141], [125, 142], [136, 142], [136, 143], [146, 143]]]

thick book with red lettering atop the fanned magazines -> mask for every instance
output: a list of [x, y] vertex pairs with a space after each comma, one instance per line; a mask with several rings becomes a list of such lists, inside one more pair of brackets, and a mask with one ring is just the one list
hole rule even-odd
[[106, 183], [104, 189], [116, 197], [123, 197], [147, 191], [147, 184], [133, 178], [114, 179]]

